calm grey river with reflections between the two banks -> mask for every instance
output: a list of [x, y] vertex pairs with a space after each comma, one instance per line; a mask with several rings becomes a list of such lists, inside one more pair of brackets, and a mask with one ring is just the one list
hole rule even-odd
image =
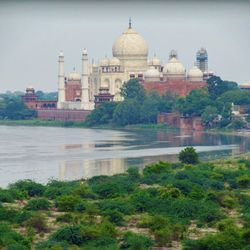
[[237, 155], [250, 138], [190, 131], [103, 130], [0, 126], [0, 187], [20, 179], [46, 183], [142, 168], [175, 161], [192, 145], [203, 159]]

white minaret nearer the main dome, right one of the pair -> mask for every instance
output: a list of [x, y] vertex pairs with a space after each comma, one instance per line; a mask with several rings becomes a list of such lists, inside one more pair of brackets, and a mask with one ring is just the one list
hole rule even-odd
[[81, 108], [89, 110], [89, 75], [88, 75], [88, 52], [86, 49], [82, 52], [82, 101]]

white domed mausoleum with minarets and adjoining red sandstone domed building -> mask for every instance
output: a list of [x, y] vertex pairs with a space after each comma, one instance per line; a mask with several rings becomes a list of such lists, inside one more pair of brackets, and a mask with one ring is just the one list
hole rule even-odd
[[[205, 73], [198, 67], [190, 69], [187, 73], [176, 50], [170, 51], [165, 66], [156, 55], [149, 59], [148, 54], [147, 42], [132, 27], [131, 20], [125, 31], [115, 39], [111, 58], [106, 56], [97, 64], [90, 63], [87, 50], [83, 50], [81, 73], [74, 70], [66, 75], [64, 55], [60, 52], [57, 107], [93, 109], [95, 97], [98, 97], [100, 89], [102, 92], [104, 89], [107, 92], [108, 89], [112, 100], [121, 101], [120, 89], [130, 78], [138, 78], [146, 91], [157, 91], [159, 94], [170, 91], [176, 95], [186, 96], [192, 89], [205, 86]], [[100, 97], [98, 100], [101, 99], [103, 98]]]

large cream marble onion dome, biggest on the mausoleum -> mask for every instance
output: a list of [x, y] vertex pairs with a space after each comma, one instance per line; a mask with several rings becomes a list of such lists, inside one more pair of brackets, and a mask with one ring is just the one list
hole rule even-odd
[[113, 56], [118, 58], [147, 57], [148, 46], [144, 38], [129, 27], [116, 39], [112, 52]]

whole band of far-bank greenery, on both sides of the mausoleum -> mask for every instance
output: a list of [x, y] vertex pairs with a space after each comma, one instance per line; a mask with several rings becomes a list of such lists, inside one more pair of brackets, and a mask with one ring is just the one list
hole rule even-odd
[[[29, 110], [21, 101], [23, 93], [0, 95], [0, 124], [60, 127], [137, 127], [159, 128], [157, 116], [161, 112], [178, 112], [185, 117], [199, 116], [206, 128], [237, 130], [249, 126], [250, 116], [237, 118], [232, 115], [232, 104], [244, 105], [250, 110], [250, 93], [240, 90], [237, 83], [223, 81], [213, 76], [207, 86], [195, 89], [186, 97], [170, 92], [159, 96], [157, 92], [146, 93], [138, 79], [125, 82], [121, 88], [122, 102], [106, 102], [93, 110], [85, 122], [39, 121], [36, 112]], [[36, 92], [40, 100], [54, 100], [56, 92]]]

